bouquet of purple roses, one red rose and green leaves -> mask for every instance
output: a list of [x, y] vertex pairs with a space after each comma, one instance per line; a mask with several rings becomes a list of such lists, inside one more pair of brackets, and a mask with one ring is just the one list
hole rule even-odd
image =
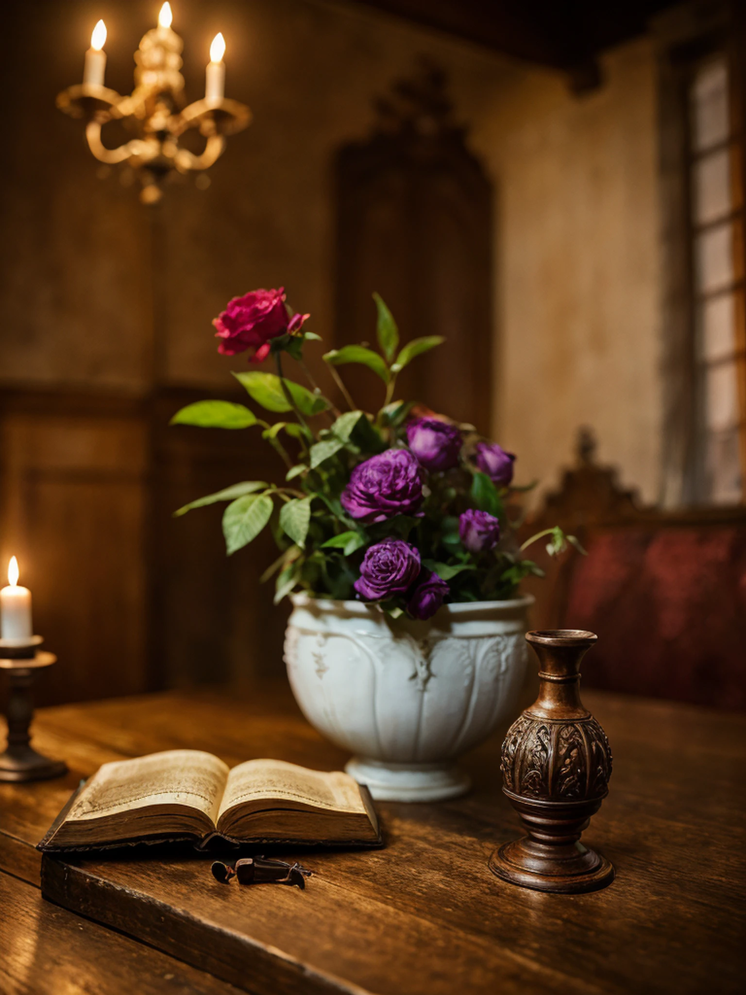
[[[245, 405], [214, 400], [188, 405], [171, 424], [259, 426], [286, 465], [285, 480], [245, 481], [175, 513], [229, 501], [223, 515], [229, 554], [270, 524], [280, 556], [263, 579], [278, 574], [276, 602], [301, 589], [375, 602], [393, 617], [406, 612], [428, 619], [444, 602], [511, 598], [523, 577], [542, 574], [523, 556], [530, 543], [548, 537], [547, 551], [558, 555], [568, 542], [580, 548], [577, 539], [557, 527], [518, 546], [509, 498], [528, 488], [512, 483], [515, 456], [473, 426], [396, 399], [398, 374], [444, 339], [429, 335], [400, 348], [391, 312], [373, 297], [378, 351], [346, 345], [323, 356], [349, 408], [344, 412], [305, 366], [303, 346], [319, 336], [305, 329], [308, 314], [286, 305], [282, 288], [229, 302], [213, 321], [218, 350], [236, 355], [254, 349], [252, 362], [274, 356], [277, 374], [234, 376], [258, 405], [292, 420], [271, 424]], [[298, 362], [309, 387], [282, 375], [283, 353]], [[347, 363], [368, 367], [383, 382], [375, 414], [359, 410], [350, 397], [338, 371]]]

